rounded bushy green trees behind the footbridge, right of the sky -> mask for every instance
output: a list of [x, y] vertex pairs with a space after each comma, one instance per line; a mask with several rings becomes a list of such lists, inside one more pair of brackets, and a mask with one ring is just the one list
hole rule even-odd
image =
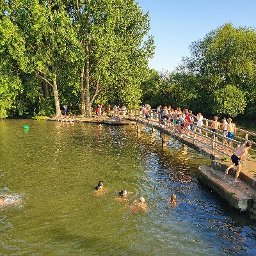
[[256, 115], [256, 33], [224, 24], [190, 45], [173, 72], [151, 70], [142, 102], [205, 115]]

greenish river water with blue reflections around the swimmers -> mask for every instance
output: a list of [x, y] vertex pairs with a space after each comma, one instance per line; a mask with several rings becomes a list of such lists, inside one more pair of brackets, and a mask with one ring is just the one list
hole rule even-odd
[[[255, 221], [197, 179], [209, 159], [175, 140], [163, 150], [134, 127], [33, 120], [0, 132], [1, 195], [17, 202], [0, 209], [0, 255], [256, 255]], [[140, 196], [147, 211], [131, 207]]]

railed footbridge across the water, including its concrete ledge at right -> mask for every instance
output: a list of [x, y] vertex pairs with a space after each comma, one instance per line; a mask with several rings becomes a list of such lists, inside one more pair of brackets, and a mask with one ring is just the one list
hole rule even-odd
[[[126, 120], [135, 122], [137, 132], [147, 126], [152, 132], [158, 130], [162, 139], [163, 147], [167, 146], [170, 137], [180, 141], [184, 145], [193, 148], [212, 160], [211, 166], [200, 166], [199, 177], [205, 184], [210, 186], [219, 195], [225, 198], [230, 205], [241, 211], [249, 211], [252, 218], [256, 218], [256, 134], [250, 131], [237, 128], [234, 140], [229, 139], [220, 133], [212, 132], [211, 120], [204, 119], [204, 125], [198, 127], [193, 124], [193, 130], [188, 129], [187, 122], [166, 118], [162, 119], [156, 109], [150, 110], [150, 115], [145, 117], [138, 109], [129, 109]], [[187, 125], [181, 125], [181, 124]], [[225, 143], [223, 143], [223, 141]], [[243, 161], [242, 171], [239, 175], [241, 183], [234, 183], [236, 170], [230, 170], [225, 175], [225, 169], [230, 164], [230, 156], [234, 154], [234, 148], [252, 142], [252, 148], [246, 159]], [[230, 147], [232, 143], [232, 147]]]

